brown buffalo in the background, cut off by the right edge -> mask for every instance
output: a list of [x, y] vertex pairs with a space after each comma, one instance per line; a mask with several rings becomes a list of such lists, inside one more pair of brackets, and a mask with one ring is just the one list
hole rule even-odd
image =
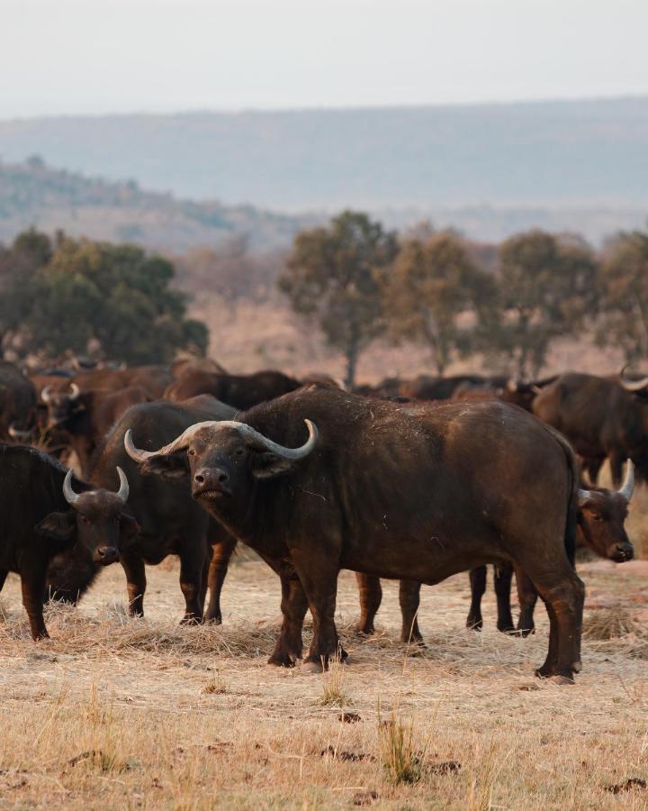
[[626, 459], [648, 478], [648, 378], [563, 374], [536, 396], [533, 413], [572, 442], [593, 483], [606, 457], [615, 487]]

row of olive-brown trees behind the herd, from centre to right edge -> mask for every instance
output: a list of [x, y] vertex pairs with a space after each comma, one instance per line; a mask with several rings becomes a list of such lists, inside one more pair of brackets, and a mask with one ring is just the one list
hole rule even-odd
[[583, 331], [628, 362], [648, 358], [648, 233], [620, 233], [599, 254], [573, 235], [518, 233], [487, 264], [459, 233], [400, 237], [345, 211], [297, 234], [278, 285], [344, 353], [347, 386], [376, 338], [422, 344], [440, 375], [481, 353], [535, 377], [556, 339]]

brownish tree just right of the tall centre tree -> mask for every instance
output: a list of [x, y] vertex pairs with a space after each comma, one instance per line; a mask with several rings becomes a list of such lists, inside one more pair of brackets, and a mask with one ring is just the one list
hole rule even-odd
[[474, 319], [465, 316], [484, 307], [492, 289], [491, 278], [477, 268], [457, 234], [410, 239], [384, 286], [392, 337], [428, 346], [442, 375], [454, 351], [472, 348]]

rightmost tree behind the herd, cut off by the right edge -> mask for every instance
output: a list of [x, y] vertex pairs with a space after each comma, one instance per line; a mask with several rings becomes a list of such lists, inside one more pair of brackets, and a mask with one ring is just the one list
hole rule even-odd
[[648, 233], [621, 233], [601, 266], [600, 345], [621, 347], [626, 362], [648, 359]]

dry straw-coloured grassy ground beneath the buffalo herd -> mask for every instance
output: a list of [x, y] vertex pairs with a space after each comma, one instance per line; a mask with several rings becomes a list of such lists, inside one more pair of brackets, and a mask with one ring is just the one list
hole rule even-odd
[[[640, 492], [630, 525], [644, 550], [646, 517]], [[385, 583], [378, 633], [362, 638], [343, 572], [351, 663], [314, 676], [266, 666], [278, 581], [245, 552], [220, 627], [177, 624], [171, 560], [148, 570], [146, 619], [128, 618], [112, 566], [78, 609], [50, 608], [51, 639], [34, 643], [11, 576], [0, 806], [644, 808], [648, 789], [632, 781], [648, 781], [648, 563], [585, 562], [581, 575], [583, 671], [571, 687], [533, 676], [544, 608], [526, 640], [495, 630], [491, 575], [482, 633], [464, 628], [466, 575], [424, 588], [428, 645], [413, 651], [398, 641], [396, 584]]]

